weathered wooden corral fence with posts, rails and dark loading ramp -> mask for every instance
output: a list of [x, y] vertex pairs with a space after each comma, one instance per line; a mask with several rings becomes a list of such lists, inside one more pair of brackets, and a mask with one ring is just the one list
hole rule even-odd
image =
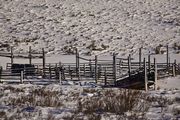
[[[31, 51], [31, 48], [30, 48]], [[167, 62], [157, 63], [156, 59], [151, 61], [151, 55], [148, 59], [142, 59], [142, 50], [139, 49], [139, 61], [134, 61], [131, 55], [128, 58], [118, 58], [113, 54], [111, 60], [101, 60], [98, 56], [94, 59], [81, 57], [76, 51], [75, 63], [46, 63], [45, 52], [42, 50], [42, 63], [33, 63], [32, 53], [29, 58], [29, 64], [7, 63], [5, 70], [0, 69], [0, 80], [16, 80], [21, 83], [26, 79], [50, 79], [60, 82], [62, 80], [94, 80], [97, 84], [103, 86], [116, 86], [125, 88], [145, 88], [149, 85], [157, 88], [157, 79], [176, 76], [180, 74], [180, 64], [169, 62], [169, 52], [167, 47]], [[80, 62], [80, 60], [84, 62]], [[32, 81], [33, 81], [32, 80]]]

